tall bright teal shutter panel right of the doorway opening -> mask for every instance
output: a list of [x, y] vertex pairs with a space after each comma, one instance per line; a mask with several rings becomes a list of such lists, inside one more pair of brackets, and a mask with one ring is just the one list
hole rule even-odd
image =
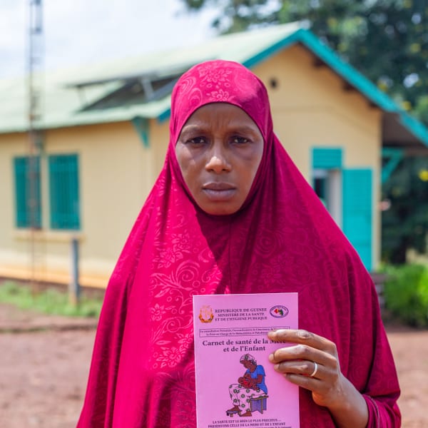
[[372, 269], [372, 170], [343, 170], [343, 232]]

